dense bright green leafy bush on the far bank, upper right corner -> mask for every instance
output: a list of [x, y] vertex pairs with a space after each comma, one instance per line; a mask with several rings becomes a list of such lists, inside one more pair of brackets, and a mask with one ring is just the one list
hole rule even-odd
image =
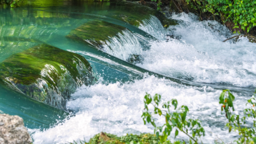
[[256, 1], [255, 0], [186, 0], [187, 4], [194, 7], [200, 14], [211, 12], [219, 15], [223, 23], [233, 22], [234, 33], [245, 33], [256, 26]]

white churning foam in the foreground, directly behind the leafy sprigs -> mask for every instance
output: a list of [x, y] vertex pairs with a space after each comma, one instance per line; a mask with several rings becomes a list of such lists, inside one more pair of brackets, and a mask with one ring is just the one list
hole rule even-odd
[[[220, 90], [211, 87], [183, 86], [154, 76], [137, 80], [134, 83], [96, 84], [83, 86], [72, 95], [74, 100], [67, 102], [67, 108], [77, 111], [76, 116], [66, 119], [51, 129], [34, 130], [34, 143], [65, 143], [73, 140], [89, 140], [101, 131], [124, 135], [126, 133], [153, 133], [153, 127], [144, 125], [141, 114], [144, 109], [143, 97], [146, 92], [162, 95], [162, 101], [177, 99], [179, 106], [187, 105], [189, 118], [201, 119], [206, 130], [203, 138], [212, 142], [217, 136], [229, 142], [234, 133], [224, 128], [226, 117], [220, 113], [218, 103]], [[235, 94], [236, 113], [241, 112], [245, 98]], [[163, 118], [157, 118], [157, 125]], [[179, 138], [187, 138], [180, 135]], [[227, 139], [228, 138], [228, 139]]]

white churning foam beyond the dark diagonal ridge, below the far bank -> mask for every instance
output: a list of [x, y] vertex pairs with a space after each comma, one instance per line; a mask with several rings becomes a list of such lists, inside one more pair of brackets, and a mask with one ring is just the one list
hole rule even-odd
[[152, 42], [143, 51], [138, 66], [157, 73], [202, 83], [225, 83], [241, 87], [256, 86], [255, 43], [231, 37], [217, 21], [198, 21], [193, 14], [173, 15], [180, 25], [169, 27], [169, 41]]

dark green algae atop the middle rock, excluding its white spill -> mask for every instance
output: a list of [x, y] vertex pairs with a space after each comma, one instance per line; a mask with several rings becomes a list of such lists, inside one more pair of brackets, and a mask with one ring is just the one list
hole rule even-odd
[[84, 25], [71, 30], [66, 36], [76, 41], [93, 45], [98, 49], [102, 49], [102, 45], [106, 44], [111, 37], [119, 37], [126, 28], [115, 25], [106, 21], [92, 20], [84, 23]]

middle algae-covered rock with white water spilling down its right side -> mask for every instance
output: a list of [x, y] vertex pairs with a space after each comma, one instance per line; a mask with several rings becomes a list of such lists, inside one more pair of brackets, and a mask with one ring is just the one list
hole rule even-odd
[[123, 60], [129, 59], [131, 54], [141, 53], [140, 42], [132, 31], [106, 21], [88, 21], [71, 30], [66, 37], [92, 45]]

